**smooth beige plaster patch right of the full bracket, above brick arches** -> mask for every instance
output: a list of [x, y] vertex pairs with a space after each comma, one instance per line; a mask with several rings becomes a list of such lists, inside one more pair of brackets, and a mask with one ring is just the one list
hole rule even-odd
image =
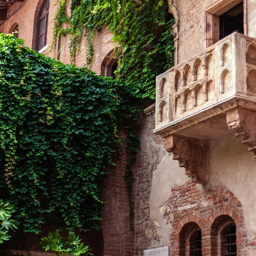
[[209, 143], [210, 184], [223, 184], [242, 203], [249, 234], [256, 236], [256, 159], [240, 138], [230, 134]]

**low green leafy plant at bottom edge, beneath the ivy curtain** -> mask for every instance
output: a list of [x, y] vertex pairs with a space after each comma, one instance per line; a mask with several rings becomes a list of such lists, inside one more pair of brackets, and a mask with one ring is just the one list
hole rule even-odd
[[84, 245], [79, 236], [75, 236], [74, 233], [69, 234], [67, 238], [63, 238], [55, 230], [54, 233], [50, 232], [48, 237], [43, 237], [40, 244], [45, 251], [54, 251], [57, 256], [88, 256], [91, 254], [88, 253], [90, 251], [89, 246]]

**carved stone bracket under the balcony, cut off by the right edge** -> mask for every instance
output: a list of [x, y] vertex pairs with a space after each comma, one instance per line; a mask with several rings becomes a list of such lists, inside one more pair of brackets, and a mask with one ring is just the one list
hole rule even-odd
[[241, 137], [242, 143], [248, 145], [248, 150], [254, 152], [256, 158], [256, 113], [235, 108], [227, 112], [227, 125]]

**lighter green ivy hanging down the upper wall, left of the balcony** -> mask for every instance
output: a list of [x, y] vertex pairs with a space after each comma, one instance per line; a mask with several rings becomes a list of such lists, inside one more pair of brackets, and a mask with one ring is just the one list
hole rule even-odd
[[[139, 2], [139, 1], [137, 1]], [[71, 35], [71, 59], [87, 38], [87, 61], [93, 61], [95, 34], [107, 26], [119, 47], [117, 80], [137, 98], [155, 98], [155, 76], [173, 65], [173, 19], [165, 0], [72, 0], [71, 17], [65, 15], [61, 0], [54, 23], [54, 42], [59, 36]], [[62, 25], [64, 23], [70, 26]], [[117, 53], [118, 55], [118, 53]]]

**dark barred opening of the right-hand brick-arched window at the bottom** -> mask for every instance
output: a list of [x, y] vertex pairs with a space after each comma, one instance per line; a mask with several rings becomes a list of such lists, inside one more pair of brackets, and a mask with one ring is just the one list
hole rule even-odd
[[237, 255], [235, 224], [228, 225], [222, 231], [222, 251], [224, 256]]

